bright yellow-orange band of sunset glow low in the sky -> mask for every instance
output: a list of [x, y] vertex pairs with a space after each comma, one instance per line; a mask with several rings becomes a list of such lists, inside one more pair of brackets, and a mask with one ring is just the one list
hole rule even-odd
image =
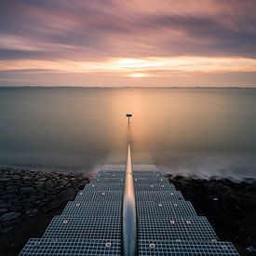
[[256, 60], [214, 57], [110, 58], [101, 61], [0, 61], [0, 71], [61, 74], [115, 74], [128, 77], [188, 76], [193, 73], [256, 72]]

